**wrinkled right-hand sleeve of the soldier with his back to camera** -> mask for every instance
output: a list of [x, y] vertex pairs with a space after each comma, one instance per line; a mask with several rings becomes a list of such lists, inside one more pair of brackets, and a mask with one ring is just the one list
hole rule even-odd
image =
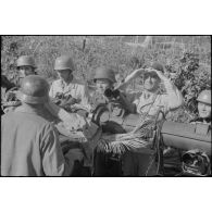
[[73, 161], [63, 157], [59, 136], [53, 125], [48, 124], [40, 140], [42, 169], [47, 176], [68, 176], [73, 170]]

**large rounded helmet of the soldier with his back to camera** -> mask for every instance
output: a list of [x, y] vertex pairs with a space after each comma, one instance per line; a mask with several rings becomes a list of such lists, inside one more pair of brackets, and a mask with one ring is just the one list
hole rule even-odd
[[49, 84], [38, 75], [23, 78], [17, 99], [30, 104], [42, 104], [49, 99]]

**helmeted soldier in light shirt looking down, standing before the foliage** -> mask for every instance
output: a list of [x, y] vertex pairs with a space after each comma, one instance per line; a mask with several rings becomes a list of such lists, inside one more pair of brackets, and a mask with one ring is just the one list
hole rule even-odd
[[88, 95], [85, 86], [79, 84], [73, 76], [73, 72], [75, 71], [73, 60], [68, 55], [57, 58], [54, 71], [58, 73], [59, 79], [52, 83], [49, 96], [51, 98], [60, 95], [71, 96], [76, 99], [76, 103], [84, 107], [88, 105]]

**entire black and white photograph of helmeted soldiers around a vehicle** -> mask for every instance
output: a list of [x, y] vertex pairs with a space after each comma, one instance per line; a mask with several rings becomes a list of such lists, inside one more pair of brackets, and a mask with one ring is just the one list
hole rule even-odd
[[1, 36], [1, 176], [210, 176], [211, 142], [210, 36]]

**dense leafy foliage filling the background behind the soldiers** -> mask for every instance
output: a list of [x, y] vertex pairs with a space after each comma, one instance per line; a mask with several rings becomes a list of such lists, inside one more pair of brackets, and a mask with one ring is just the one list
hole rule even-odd
[[[142, 48], [128, 46], [145, 36], [1, 36], [1, 72], [10, 79], [17, 77], [15, 61], [32, 54], [38, 74], [50, 82], [57, 77], [53, 63], [57, 57], [70, 54], [76, 65], [77, 78], [89, 80], [99, 65], [110, 65], [123, 79], [133, 70], [153, 61], [164, 64], [167, 76], [182, 90], [184, 108], [170, 114], [170, 120], [187, 122], [196, 115], [195, 99], [210, 85], [210, 36], [153, 36], [152, 43]], [[135, 80], [133, 89], [138, 89]]]

